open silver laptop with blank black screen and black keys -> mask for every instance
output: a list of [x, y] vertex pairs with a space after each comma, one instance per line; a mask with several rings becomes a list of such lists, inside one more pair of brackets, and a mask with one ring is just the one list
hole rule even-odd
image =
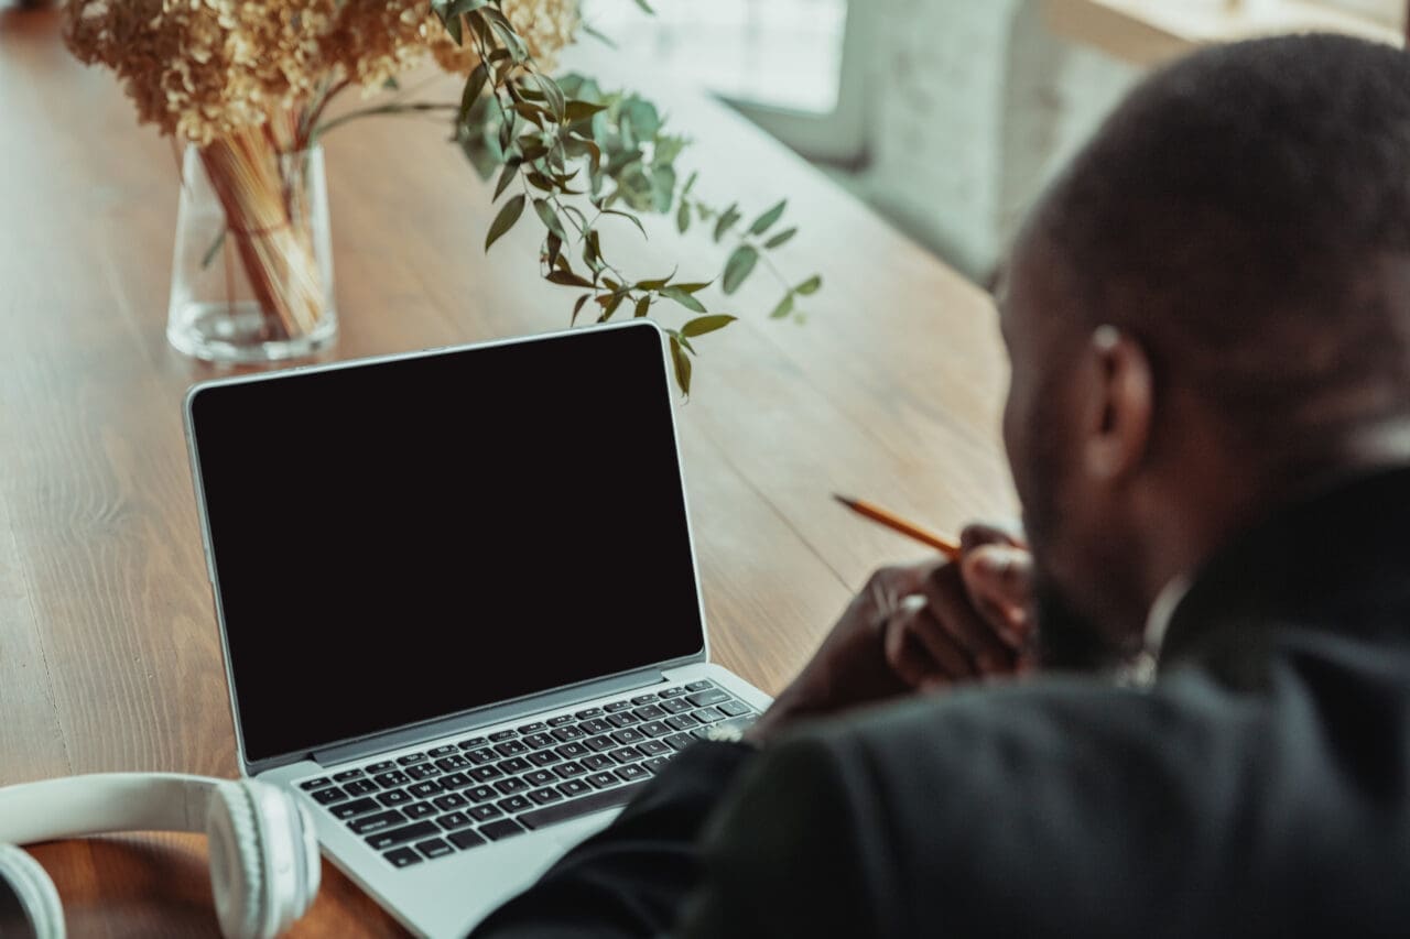
[[416, 933], [768, 705], [709, 663], [649, 321], [206, 382], [186, 430], [240, 770]]

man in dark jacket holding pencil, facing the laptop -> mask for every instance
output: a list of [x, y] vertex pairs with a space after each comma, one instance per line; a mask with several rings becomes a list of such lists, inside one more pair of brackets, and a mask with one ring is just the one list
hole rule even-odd
[[[477, 935], [1410, 929], [1410, 58], [1156, 73], [1000, 307], [1032, 568], [973, 529], [880, 572]], [[957, 687], [1034, 623], [1053, 674]]]

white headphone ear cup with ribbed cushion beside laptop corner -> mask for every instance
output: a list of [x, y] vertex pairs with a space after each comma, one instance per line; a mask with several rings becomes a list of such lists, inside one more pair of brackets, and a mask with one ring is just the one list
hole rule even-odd
[[254, 780], [221, 782], [206, 819], [216, 914], [228, 939], [272, 939], [307, 912], [323, 866], [313, 818]]

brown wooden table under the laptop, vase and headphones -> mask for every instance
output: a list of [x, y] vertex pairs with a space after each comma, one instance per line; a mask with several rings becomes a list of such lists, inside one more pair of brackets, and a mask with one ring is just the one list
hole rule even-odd
[[[918, 556], [829, 492], [940, 529], [1012, 512], [1005, 361], [984, 293], [723, 107], [646, 90], [697, 138], [701, 192], [756, 211], [787, 195], [787, 262], [828, 281], [797, 326], [766, 319], [776, 288], [756, 275], [743, 321], [699, 341], [680, 410], [715, 656], [773, 692], [873, 567]], [[382, 118], [329, 141], [340, 357], [567, 323], [533, 226], [482, 254], [489, 193], [443, 138]], [[164, 337], [176, 190], [169, 141], [68, 55], [56, 16], [0, 11], [0, 784], [235, 773], [179, 412], [213, 372]], [[718, 269], [704, 233], [651, 230], [606, 247], [643, 272]], [[35, 853], [75, 935], [214, 933], [200, 837]], [[296, 929], [396, 932], [331, 867]]]

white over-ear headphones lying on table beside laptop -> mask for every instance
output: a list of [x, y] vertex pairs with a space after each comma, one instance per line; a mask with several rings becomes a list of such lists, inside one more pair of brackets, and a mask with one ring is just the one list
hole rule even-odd
[[75, 775], [0, 788], [0, 933], [63, 939], [54, 883], [13, 845], [104, 832], [206, 832], [227, 939], [274, 939], [319, 892], [313, 819], [282, 790], [175, 773]]

